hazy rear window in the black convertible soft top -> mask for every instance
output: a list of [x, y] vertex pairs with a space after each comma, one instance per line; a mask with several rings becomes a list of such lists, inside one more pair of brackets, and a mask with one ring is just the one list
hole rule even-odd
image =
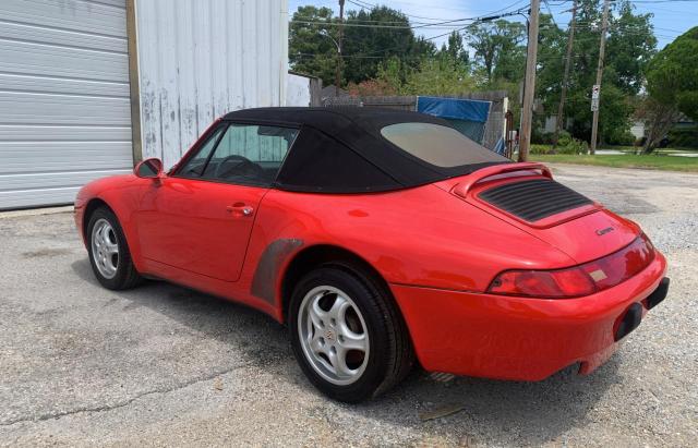
[[381, 135], [412, 156], [441, 168], [509, 161], [471, 141], [453, 128], [433, 123], [398, 123]]

